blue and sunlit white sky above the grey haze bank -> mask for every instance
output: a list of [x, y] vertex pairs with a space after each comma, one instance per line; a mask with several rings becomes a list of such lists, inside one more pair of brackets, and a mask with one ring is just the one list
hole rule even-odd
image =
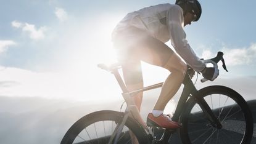
[[[97, 63], [116, 61], [112, 30], [128, 12], [167, 2], [174, 3], [1, 1], [0, 95], [72, 100], [118, 95], [120, 89], [112, 74], [97, 68]], [[224, 52], [229, 72], [219, 65], [218, 79], [255, 78], [256, 2], [200, 3], [200, 20], [184, 28], [192, 49], [201, 58]], [[170, 41], [167, 44], [171, 47]], [[142, 68], [145, 85], [162, 82], [168, 76], [167, 70], [146, 63]]]

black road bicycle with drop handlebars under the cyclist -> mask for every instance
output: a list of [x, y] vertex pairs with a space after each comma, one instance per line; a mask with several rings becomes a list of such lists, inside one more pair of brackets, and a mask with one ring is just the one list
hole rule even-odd
[[[220, 60], [226, 70], [222, 52], [205, 62], [216, 67]], [[114, 74], [123, 91], [126, 110], [103, 110], [84, 116], [68, 129], [61, 143], [131, 143], [133, 137], [130, 133], [139, 143], [168, 143], [176, 130], [147, 127], [139, 122], [141, 116], [131, 98], [139, 92], [162, 87], [163, 82], [129, 92], [118, 72], [120, 64], [98, 66]], [[202, 82], [206, 80], [201, 79]], [[254, 123], [249, 106], [240, 94], [225, 86], [197, 90], [188, 72], [183, 84], [183, 92], [172, 117], [173, 121], [182, 124], [179, 132], [183, 143], [250, 143]], [[161, 137], [156, 136], [159, 134], [155, 133], [157, 129], [164, 130]]]

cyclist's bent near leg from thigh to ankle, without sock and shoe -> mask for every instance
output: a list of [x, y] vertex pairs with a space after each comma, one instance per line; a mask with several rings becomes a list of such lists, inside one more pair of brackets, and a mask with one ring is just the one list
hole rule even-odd
[[143, 48], [138, 53], [144, 62], [152, 65], [161, 66], [171, 73], [165, 80], [160, 96], [154, 106], [154, 110], [163, 110], [169, 100], [176, 94], [180, 88], [186, 74], [186, 63], [173, 52], [167, 45], [158, 39], [148, 37], [142, 43]]

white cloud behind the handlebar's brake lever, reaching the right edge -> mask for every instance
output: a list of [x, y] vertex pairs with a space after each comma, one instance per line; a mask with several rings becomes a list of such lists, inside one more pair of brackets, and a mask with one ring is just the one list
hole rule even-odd
[[[224, 53], [225, 62], [229, 66], [250, 65], [256, 62], [256, 43], [250, 44], [249, 47], [231, 49], [224, 46], [221, 51]], [[212, 58], [216, 53], [210, 49], [204, 49], [202, 57]]]

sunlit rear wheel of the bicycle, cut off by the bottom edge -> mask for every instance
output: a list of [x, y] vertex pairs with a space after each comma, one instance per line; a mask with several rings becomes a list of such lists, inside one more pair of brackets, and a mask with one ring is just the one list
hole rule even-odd
[[[88, 114], [73, 124], [68, 129], [61, 144], [69, 143], [108, 143], [117, 124], [122, 122], [124, 113], [117, 111], [96, 111]], [[130, 133], [135, 135], [131, 138]], [[128, 118], [117, 143], [148, 143], [147, 135], [137, 122]], [[114, 141], [112, 142], [114, 143]]]

